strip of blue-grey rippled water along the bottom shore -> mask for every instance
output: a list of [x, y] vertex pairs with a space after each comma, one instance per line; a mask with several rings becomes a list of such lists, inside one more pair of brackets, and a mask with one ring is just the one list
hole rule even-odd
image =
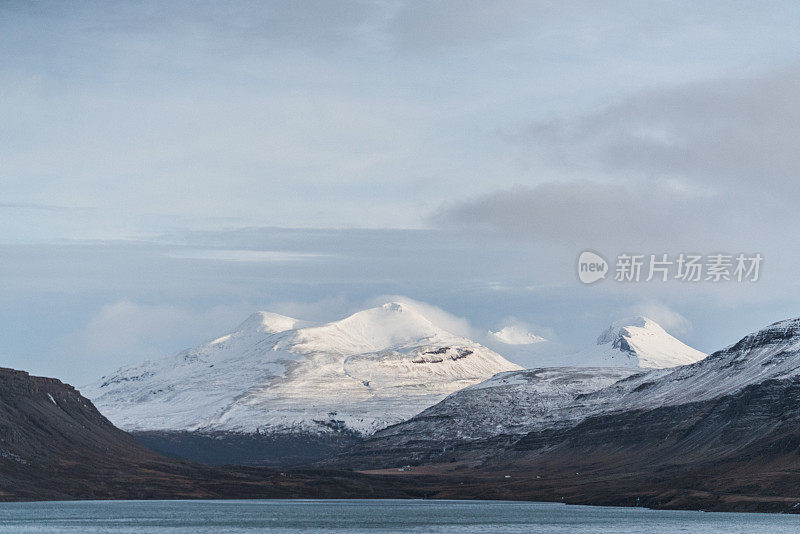
[[0, 532], [797, 532], [793, 515], [508, 501], [73, 501], [0, 504]]

